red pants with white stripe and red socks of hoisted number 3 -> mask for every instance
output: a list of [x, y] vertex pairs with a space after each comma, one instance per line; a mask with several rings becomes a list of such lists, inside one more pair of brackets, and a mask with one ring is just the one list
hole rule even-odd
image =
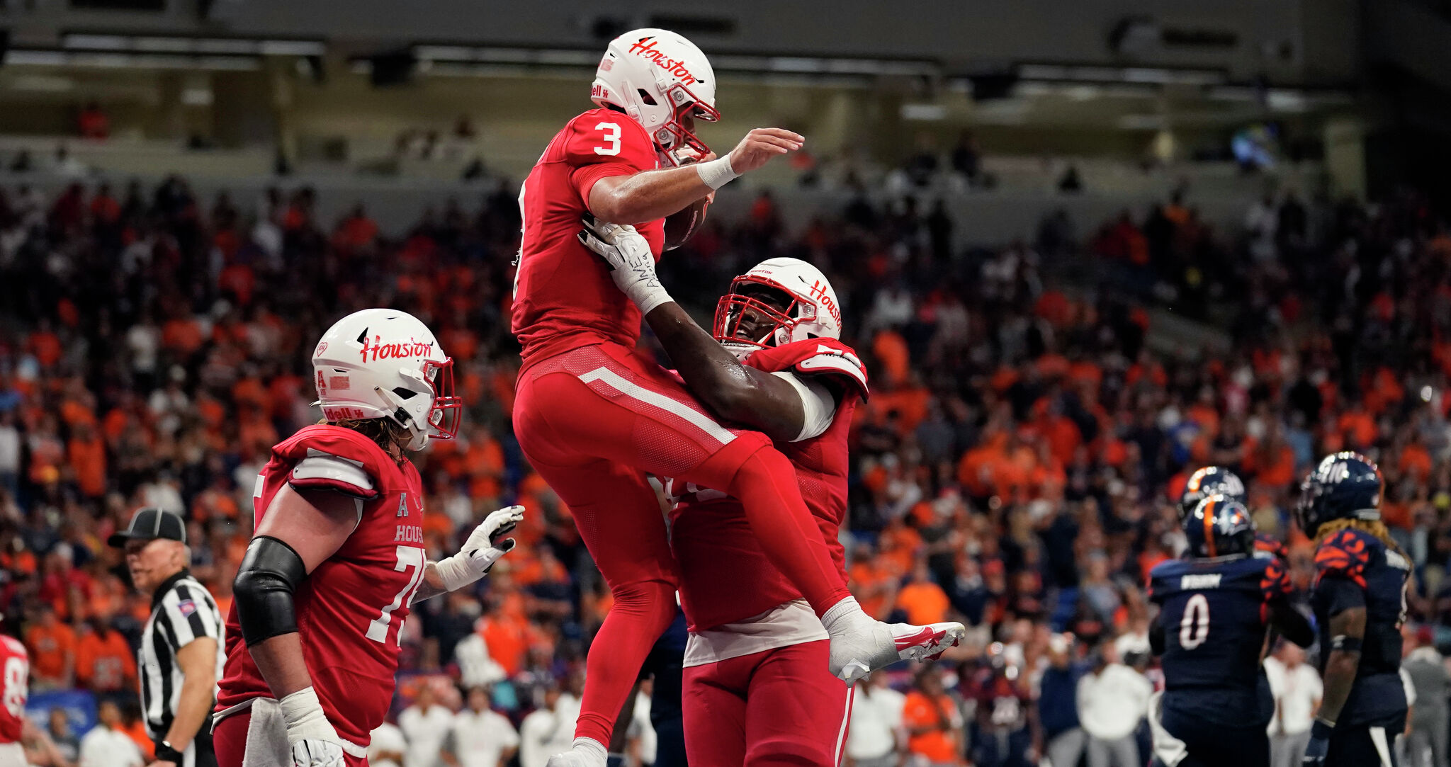
[[675, 618], [675, 561], [647, 473], [739, 499], [772, 564], [817, 615], [850, 596], [791, 461], [765, 435], [717, 423], [633, 349], [596, 344], [519, 371], [514, 432], [569, 506], [615, 599], [595, 638], [601, 651], [586, 660], [576, 737], [609, 742], [640, 664]]

